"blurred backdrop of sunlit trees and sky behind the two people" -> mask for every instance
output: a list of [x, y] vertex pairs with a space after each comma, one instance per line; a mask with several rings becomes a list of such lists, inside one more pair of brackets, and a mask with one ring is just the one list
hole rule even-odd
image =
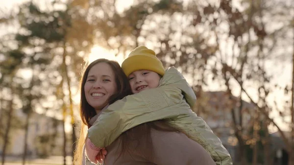
[[293, 0], [1, 0], [1, 165], [72, 165], [79, 80], [135, 47], [181, 71], [234, 165], [294, 165]]

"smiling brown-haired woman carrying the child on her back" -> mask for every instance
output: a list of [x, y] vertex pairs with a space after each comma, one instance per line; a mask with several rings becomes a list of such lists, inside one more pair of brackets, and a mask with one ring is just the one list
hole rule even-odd
[[[94, 61], [84, 72], [81, 83], [80, 115], [83, 124], [89, 128], [91, 118], [128, 94], [128, 80], [118, 63], [105, 59]], [[76, 154], [78, 165], [85, 139], [83, 130], [80, 137]], [[124, 132], [106, 150], [105, 165], [215, 165], [202, 146], [165, 121], [136, 126]]]

